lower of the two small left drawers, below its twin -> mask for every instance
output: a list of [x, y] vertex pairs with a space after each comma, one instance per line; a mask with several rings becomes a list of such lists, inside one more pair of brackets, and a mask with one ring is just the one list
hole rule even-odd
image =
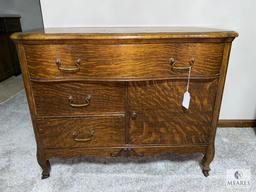
[[112, 147], [125, 143], [121, 116], [44, 119], [36, 124], [45, 148]]

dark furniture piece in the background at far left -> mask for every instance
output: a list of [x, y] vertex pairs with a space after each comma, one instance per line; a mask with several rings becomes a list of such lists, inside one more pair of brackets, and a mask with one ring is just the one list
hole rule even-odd
[[20, 16], [0, 15], [0, 81], [19, 75], [20, 64], [10, 35], [21, 31]]

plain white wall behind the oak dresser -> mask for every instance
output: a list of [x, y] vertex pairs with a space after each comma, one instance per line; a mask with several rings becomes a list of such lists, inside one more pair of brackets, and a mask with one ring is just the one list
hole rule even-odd
[[206, 26], [236, 30], [223, 119], [256, 118], [255, 0], [41, 0], [45, 27]]

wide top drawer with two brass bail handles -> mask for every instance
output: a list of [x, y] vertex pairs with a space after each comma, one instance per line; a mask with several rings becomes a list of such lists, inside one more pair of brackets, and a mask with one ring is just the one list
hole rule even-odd
[[[154, 79], [219, 74], [224, 44], [43, 44], [25, 45], [35, 79]], [[175, 60], [172, 65], [170, 60]]]

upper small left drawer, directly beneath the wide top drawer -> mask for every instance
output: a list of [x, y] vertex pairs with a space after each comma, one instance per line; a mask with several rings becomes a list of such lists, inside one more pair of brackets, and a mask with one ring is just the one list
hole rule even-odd
[[37, 116], [124, 113], [123, 83], [31, 82]]

